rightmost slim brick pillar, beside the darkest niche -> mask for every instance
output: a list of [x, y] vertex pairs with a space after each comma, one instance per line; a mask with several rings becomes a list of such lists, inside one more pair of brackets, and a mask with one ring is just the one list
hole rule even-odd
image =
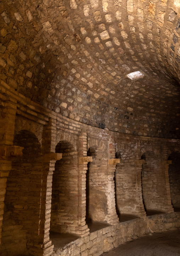
[[170, 184], [169, 184], [169, 164], [171, 164], [172, 161], [165, 160], [162, 161], [162, 168], [164, 170], [164, 176], [165, 176], [165, 201], [166, 204], [164, 205], [164, 210], [167, 213], [172, 213], [174, 211], [173, 205], [171, 204], [171, 193], [170, 193]]

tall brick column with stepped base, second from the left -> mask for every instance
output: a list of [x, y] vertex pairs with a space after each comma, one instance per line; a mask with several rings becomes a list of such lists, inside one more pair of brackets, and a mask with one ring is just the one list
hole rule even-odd
[[29, 253], [34, 256], [49, 256], [53, 252], [54, 245], [49, 238], [51, 219], [51, 194], [52, 175], [56, 160], [60, 160], [62, 154], [55, 153], [56, 146], [56, 118], [49, 119], [43, 133], [42, 151], [44, 153], [44, 163], [42, 167], [41, 183], [41, 205], [39, 218], [39, 234], [36, 244], [28, 244]]

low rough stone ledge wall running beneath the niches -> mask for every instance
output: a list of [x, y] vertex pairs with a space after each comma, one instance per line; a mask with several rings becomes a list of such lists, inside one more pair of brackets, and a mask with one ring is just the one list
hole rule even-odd
[[138, 218], [95, 231], [63, 248], [55, 247], [53, 256], [99, 256], [138, 237], [178, 228], [180, 228], [178, 213]]

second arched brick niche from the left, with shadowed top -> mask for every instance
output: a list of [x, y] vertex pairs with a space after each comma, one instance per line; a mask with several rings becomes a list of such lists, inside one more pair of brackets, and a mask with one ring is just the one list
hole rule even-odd
[[52, 176], [50, 230], [75, 234], [78, 225], [77, 151], [68, 141], [60, 141], [55, 151], [62, 153], [62, 159], [56, 161]]

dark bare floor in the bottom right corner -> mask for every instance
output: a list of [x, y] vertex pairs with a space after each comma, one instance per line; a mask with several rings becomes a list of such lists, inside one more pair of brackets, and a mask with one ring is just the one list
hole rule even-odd
[[180, 230], [141, 237], [101, 256], [180, 256]]

